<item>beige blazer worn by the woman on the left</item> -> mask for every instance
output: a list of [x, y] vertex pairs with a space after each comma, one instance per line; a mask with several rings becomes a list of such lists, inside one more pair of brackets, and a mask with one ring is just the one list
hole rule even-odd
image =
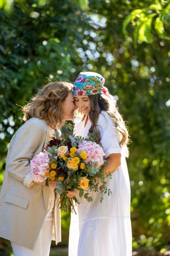
[[[50, 129], [44, 120], [31, 118], [17, 130], [9, 145], [0, 192], [0, 237], [29, 249], [34, 248], [47, 214], [50, 189], [40, 184], [32, 185], [31, 179], [26, 182], [26, 176], [30, 160], [50, 139]], [[56, 244], [61, 241], [58, 198], [56, 194], [53, 228]]]

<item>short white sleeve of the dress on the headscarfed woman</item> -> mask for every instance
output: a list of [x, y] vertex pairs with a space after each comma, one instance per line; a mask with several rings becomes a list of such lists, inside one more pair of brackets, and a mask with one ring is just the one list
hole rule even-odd
[[97, 128], [99, 130], [100, 143], [105, 152], [105, 157], [108, 158], [108, 156], [113, 153], [121, 153], [119, 135], [117, 134], [115, 123], [107, 112], [102, 111], [102, 113], [99, 114]]

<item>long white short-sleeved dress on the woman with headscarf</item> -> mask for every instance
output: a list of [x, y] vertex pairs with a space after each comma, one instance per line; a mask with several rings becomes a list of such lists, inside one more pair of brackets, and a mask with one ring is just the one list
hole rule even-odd
[[[130, 182], [124, 148], [120, 148], [120, 136], [111, 116], [105, 111], [99, 114], [98, 123], [101, 145], [108, 157], [121, 153], [121, 166], [108, 179], [107, 188], [112, 195], [91, 192], [93, 201], [78, 197], [77, 215], [71, 214], [69, 256], [131, 256], [132, 233], [130, 222]], [[76, 135], [88, 137], [91, 122], [85, 120], [75, 125]]]

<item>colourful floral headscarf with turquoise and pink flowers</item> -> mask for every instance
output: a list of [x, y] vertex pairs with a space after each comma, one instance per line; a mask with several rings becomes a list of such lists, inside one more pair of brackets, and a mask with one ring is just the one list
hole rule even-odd
[[102, 92], [105, 79], [94, 72], [81, 72], [74, 82], [73, 95], [94, 95]]

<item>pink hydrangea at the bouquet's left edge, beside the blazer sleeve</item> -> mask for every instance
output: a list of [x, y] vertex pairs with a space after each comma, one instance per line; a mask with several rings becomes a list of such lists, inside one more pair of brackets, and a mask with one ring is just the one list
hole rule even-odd
[[30, 161], [29, 171], [34, 178], [34, 181], [43, 182], [44, 180], [46, 180], [46, 177], [44, 177], [43, 175], [45, 174], [45, 172], [49, 172], [49, 161], [50, 159], [48, 157], [48, 154], [44, 152], [40, 152], [40, 154], [37, 154]]

